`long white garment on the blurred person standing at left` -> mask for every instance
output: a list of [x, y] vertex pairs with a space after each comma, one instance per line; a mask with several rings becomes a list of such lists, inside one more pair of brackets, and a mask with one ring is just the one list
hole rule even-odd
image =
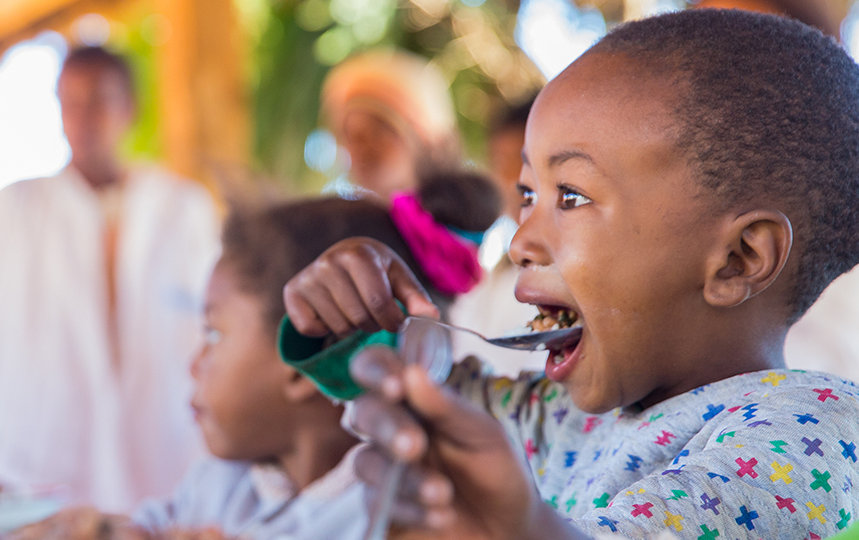
[[202, 187], [157, 168], [117, 203], [118, 358], [96, 192], [71, 168], [0, 191], [0, 484], [120, 512], [201, 454], [188, 365], [218, 223]]

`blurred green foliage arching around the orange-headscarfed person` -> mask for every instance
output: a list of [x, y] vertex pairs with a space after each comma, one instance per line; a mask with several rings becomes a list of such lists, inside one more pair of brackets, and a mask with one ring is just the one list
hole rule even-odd
[[[435, 58], [451, 80], [466, 153], [481, 161], [491, 112], [516, 102], [542, 84], [541, 76], [513, 41], [518, 2], [441, 2], [427, 14], [420, 3], [396, 0], [301, 0], [266, 2], [251, 15], [259, 24], [252, 40], [254, 156], [260, 172], [291, 187], [315, 192], [328, 180], [304, 165], [304, 141], [318, 126], [319, 92], [330, 65], [369, 47], [396, 46]], [[424, 4], [440, 5], [436, 2]], [[472, 4], [472, 5], [468, 5]], [[372, 11], [372, 20], [362, 13]], [[351, 10], [351, 11], [350, 11]], [[345, 12], [345, 13], [344, 13]], [[261, 14], [262, 13], [262, 14]], [[473, 21], [522, 66], [515, 81], [493, 78], [478, 62], [454, 50]], [[372, 32], [362, 30], [362, 24]], [[380, 26], [383, 31], [379, 31]], [[367, 36], [369, 35], [369, 38]], [[454, 45], [452, 45], [454, 44]], [[459, 59], [455, 59], [456, 56]], [[467, 113], [467, 114], [466, 114]]]

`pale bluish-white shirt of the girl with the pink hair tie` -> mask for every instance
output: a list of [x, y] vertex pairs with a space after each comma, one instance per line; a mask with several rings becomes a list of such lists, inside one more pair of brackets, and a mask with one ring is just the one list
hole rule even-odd
[[353, 472], [354, 454], [301, 491], [275, 464], [209, 458], [169, 498], [145, 501], [133, 519], [153, 535], [215, 527], [247, 540], [359, 540], [367, 494]]

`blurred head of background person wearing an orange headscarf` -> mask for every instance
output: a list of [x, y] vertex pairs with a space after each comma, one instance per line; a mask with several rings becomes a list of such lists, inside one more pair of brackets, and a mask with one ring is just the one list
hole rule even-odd
[[413, 53], [374, 49], [328, 74], [322, 116], [349, 154], [349, 180], [390, 201], [422, 175], [455, 170], [462, 151], [448, 82]]

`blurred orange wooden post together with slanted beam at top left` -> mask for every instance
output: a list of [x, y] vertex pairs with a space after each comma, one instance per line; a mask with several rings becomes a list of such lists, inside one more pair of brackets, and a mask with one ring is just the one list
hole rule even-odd
[[211, 188], [239, 177], [250, 127], [246, 49], [232, 0], [0, 0], [0, 54], [44, 30], [67, 34], [86, 13], [122, 20], [132, 11], [160, 15], [165, 31], [155, 51], [165, 164]]

